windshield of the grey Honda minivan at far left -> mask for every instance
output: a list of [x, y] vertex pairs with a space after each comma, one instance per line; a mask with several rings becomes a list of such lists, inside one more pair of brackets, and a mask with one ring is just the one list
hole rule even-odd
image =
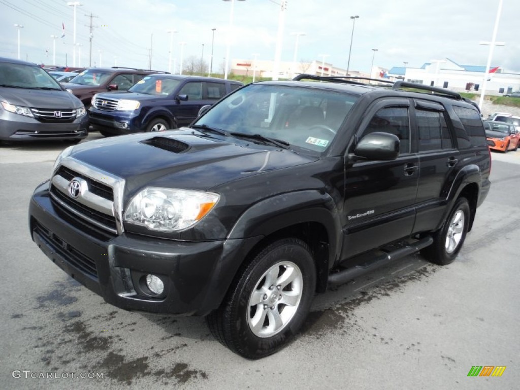
[[59, 89], [60, 85], [44, 69], [22, 63], [0, 62], [0, 86]]

